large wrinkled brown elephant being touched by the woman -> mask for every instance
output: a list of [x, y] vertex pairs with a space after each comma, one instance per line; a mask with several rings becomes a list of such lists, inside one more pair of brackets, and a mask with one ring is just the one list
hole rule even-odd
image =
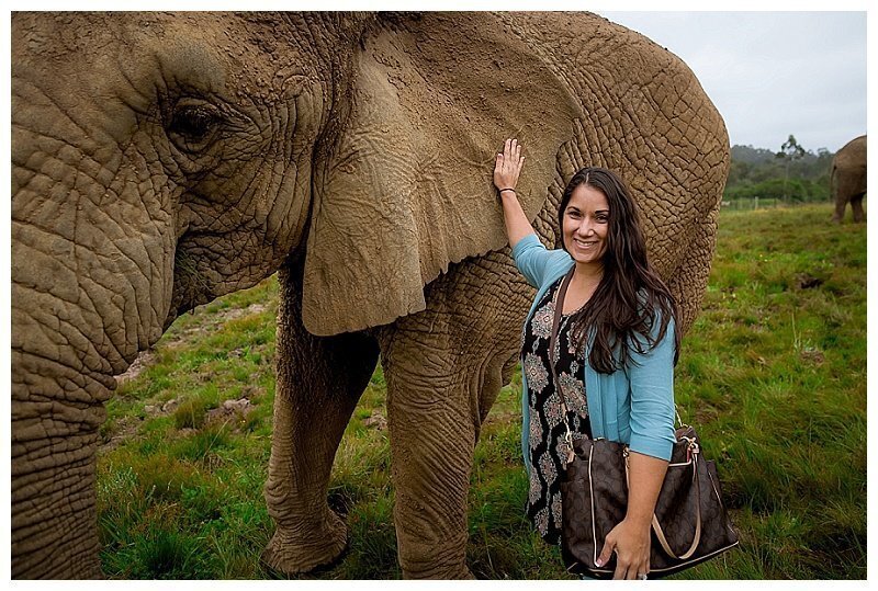
[[104, 402], [175, 318], [279, 273], [262, 560], [333, 562], [345, 425], [380, 362], [397, 558], [469, 578], [480, 428], [533, 297], [492, 171], [559, 243], [565, 180], [604, 166], [691, 326], [729, 169], [689, 68], [590, 13], [14, 13], [12, 576], [99, 578]]

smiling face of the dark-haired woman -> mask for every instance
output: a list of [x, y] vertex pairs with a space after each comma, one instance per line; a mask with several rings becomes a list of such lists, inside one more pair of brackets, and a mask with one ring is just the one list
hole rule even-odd
[[581, 184], [564, 208], [564, 247], [576, 263], [600, 263], [607, 250], [610, 208], [607, 196], [594, 186]]

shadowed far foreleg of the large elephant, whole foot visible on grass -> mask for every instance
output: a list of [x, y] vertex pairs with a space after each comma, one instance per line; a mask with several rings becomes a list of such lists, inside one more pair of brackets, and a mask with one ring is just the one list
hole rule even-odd
[[338, 444], [378, 360], [362, 333], [319, 338], [302, 325], [301, 268], [280, 274], [278, 382], [266, 501], [277, 530], [262, 560], [286, 573], [331, 562], [347, 527], [327, 504]]

